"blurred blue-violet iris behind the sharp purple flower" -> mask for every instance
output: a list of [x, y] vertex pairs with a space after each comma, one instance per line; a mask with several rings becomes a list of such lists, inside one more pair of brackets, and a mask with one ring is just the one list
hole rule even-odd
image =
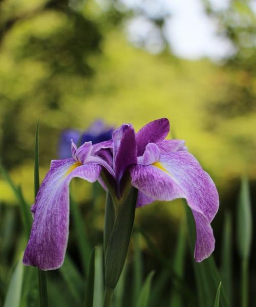
[[108, 141], [112, 137], [114, 129], [106, 126], [102, 120], [96, 120], [92, 125], [83, 133], [74, 129], [64, 130], [59, 139], [58, 156], [59, 159], [71, 158], [71, 140], [76, 144], [83, 144], [84, 142], [91, 141], [97, 144], [103, 141]]

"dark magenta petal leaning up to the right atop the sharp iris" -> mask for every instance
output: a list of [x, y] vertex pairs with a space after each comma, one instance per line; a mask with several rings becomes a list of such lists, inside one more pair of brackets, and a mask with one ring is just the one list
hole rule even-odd
[[148, 143], [159, 143], [163, 141], [169, 133], [170, 125], [167, 118], [154, 120], [136, 133], [138, 146], [138, 156], [142, 156]]

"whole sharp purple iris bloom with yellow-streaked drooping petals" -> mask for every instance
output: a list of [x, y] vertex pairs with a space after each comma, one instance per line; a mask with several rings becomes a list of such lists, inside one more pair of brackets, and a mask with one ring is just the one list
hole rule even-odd
[[[197, 230], [195, 259], [207, 258], [215, 247], [210, 226], [219, 208], [214, 182], [182, 140], [165, 140], [169, 122], [162, 118], [146, 124], [138, 133], [131, 124], [114, 131], [112, 140], [79, 148], [72, 142], [72, 157], [53, 160], [32, 206], [34, 222], [24, 264], [41, 270], [59, 268], [64, 260], [69, 233], [69, 183], [79, 177], [111, 187], [122, 197], [124, 174], [139, 190], [137, 207], [155, 200], [185, 198]], [[103, 176], [107, 174], [108, 176]], [[127, 178], [127, 176], [126, 176]]]

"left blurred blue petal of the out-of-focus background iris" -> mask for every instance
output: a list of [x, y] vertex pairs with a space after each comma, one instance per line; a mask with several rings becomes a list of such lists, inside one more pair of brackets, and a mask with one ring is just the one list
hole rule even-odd
[[71, 140], [78, 144], [81, 133], [78, 130], [65, 130], [61, 133], [58, 142], [59, 159], [68, 159], [72, 157], [70, 143]]

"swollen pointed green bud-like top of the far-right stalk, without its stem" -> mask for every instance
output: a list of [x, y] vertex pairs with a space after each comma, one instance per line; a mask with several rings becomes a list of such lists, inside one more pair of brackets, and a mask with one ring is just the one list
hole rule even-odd
[[248, 258], [251, 248], [251, 202], [247, 178], [242, 178], [237, 211], [237, 244], [242, 259]]

